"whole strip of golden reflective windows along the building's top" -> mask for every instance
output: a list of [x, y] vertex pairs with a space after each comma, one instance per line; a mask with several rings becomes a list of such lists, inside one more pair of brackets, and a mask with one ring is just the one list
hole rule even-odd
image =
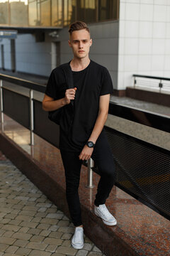
[[118, 0], [0, 0], [0, 24], [68, 26], [75, 20], [118, 19]]

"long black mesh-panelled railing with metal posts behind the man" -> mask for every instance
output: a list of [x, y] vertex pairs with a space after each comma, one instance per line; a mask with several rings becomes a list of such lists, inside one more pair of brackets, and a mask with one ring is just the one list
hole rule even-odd
[[[4, 114], [7, 114], [24, 127], [30, 129], [30, 144], [33, 144], [33, 134], [59, 146], [59, 126], [47, 118], [47, 112], [42, 110], [42, 102], [33, 98], [33, 90], [45, 92], [45, 86], [8, 75], [1, 75], [1, 131], [4, 132]], [[27, 87], [29, 97], [13, 92], [3, 86], [3, 80]], [[9, 104], [10, 103], [10, 104]], [[170, 118], [153, 114], [132, 107], [125, 107], [110, 102], [109, 114], [120, 117], [126, 122], [142, 124], [157, 130], [170, 132]], [[128, 121], [129, 120], [129, 121]], [[117, 171], [116, 186], [122, 188], [147, 206], [170, 219], [170, 154], [168, 149], [155, 146], [132, 135], [118, 132], [111, 127], [105, 127], [108, 142], [115, 159]], [[50, 130], [50, 133], [47, 132]], [[153, 129], [154, 130], [154, 129]], [[94, 166], [93, 166], [94, 164]], [[100, 174], [93, 161], [88, 162], [88, 187], [93, 187], [92, 170]]]

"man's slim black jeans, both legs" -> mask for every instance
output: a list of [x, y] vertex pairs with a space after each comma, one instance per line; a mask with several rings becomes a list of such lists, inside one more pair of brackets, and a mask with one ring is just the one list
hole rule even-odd
[[[79, 179], [82, 161], [79, 160], [80, 152], [60, 150], [66, 176], [66, 196], [72, 222], [75, 226], [82, 225], [81, 207], [79, 202]], [[106, 202], [106, 199], [115, 183], [115, 164], [113, 154], [108, 144], [105, 132], [102, 132], [94, 146], [91, 158], [95, 161], [100, 171], [100, 181], [94, 204], [99, 206]]]

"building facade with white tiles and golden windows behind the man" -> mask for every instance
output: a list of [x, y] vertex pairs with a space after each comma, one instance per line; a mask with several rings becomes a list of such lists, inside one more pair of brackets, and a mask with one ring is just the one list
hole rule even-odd
[[0, 0], [0, 68], [50, 75], [72, 58], [68, 25], [91, 30], [90, 58], [105, 65], [123, 95], [133, 74], [170, 77], [170, 0]]

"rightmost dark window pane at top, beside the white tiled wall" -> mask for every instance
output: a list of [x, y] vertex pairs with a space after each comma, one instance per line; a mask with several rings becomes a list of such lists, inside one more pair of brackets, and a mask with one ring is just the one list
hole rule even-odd
[[118, 0], [98, 0], [98, 21], [116, 19]]

